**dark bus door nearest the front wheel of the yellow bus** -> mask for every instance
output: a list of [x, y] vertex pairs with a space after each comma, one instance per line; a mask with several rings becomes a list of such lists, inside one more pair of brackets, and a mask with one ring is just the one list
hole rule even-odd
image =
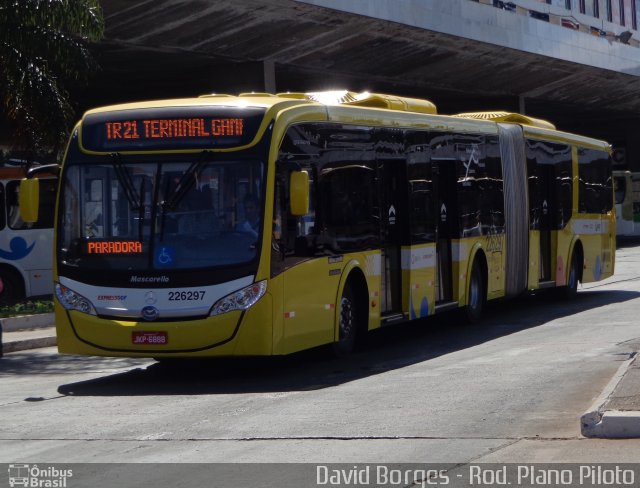
[[[380, 232], [382, 241], [383, 315], [402, 312], [402, 263], [400, 259], [403, 229], [408, 225], [406, 161], [379, 161]], [[400, 317], [398, 317], [400, 318]]]

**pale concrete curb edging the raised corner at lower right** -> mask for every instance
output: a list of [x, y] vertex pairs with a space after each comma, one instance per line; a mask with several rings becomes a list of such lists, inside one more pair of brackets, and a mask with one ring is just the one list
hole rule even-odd
[[607, 410], [607, 404], [615, 393], [637, 356], [634, 353], [620, 365], [616, 374], [580, 418], [582, 435], [601, 439], [640, 438], [640, 411]]

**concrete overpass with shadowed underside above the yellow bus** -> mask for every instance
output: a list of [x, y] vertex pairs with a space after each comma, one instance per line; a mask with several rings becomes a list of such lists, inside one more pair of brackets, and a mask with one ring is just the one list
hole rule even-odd
[[626, 146], [640, 170], [640, 34], [625, 44], [615, 37], [622, 27], [596, 37], [526, 14], [553, 18], [557, 7], [512, 4], [518, 12], [471, 0], [104, 0], [103, 72], [83, 103], [392, 92], [428, 98], [441, 113], [525, 111]]

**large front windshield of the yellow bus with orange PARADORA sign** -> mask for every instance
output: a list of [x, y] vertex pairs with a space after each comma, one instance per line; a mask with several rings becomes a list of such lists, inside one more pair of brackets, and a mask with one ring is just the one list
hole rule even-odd
[[60, 262], [171, 271], [252, 261], [263, 180], [262, 162], [211, 153], [70, 164], [61, 186]]

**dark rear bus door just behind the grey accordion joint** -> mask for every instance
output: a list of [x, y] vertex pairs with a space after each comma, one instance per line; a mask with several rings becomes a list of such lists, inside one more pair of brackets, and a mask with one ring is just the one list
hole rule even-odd
[[558, 208], [555, 185], [555, 167], [552, 164], [538, 164], [537, 171], [540, 184], [540, 270], [539, 282], [553, 279], [553, 246], [552, 231], [555, 229], [555, 217]]

